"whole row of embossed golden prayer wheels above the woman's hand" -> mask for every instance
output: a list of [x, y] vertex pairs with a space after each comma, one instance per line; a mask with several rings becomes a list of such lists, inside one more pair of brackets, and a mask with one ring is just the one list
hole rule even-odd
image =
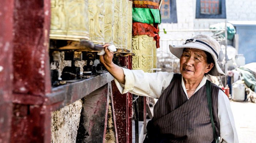
[[132, 1], [51, 0], [50, 39], [111, 43], [131, 53]]

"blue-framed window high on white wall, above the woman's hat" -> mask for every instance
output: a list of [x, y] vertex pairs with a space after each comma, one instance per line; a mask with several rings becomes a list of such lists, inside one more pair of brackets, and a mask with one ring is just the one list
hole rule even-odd
[[196, 18], [226, 18], [225, 0], [196, 0]]

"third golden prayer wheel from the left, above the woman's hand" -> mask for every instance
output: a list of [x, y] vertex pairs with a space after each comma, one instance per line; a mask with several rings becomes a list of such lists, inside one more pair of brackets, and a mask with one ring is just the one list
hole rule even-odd
[[113, 44], [114, 36], [114, 0], [105, 0], [104, 37], [106, 43]]

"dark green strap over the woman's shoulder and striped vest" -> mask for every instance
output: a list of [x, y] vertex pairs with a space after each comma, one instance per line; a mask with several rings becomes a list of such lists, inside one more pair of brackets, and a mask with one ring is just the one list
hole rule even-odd
[[207, 94], [207, 102], [208, 102], [208, 108], [209, 108], [210, 118], [211, 118], [211, 126], [212, 126], [212, 130], [213, 130], [213, 137], [215, 139], [215, 142], [218, 143], [219, 138], [216, 134], [215, 125], [213, 122], [212, 104], [211, 104], [211, 82], [209, 80], [206, 81], [206, 94]]

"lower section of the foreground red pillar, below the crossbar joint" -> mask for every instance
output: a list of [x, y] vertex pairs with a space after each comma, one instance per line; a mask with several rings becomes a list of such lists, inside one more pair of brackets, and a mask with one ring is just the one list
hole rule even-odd
[[50, 142], [49, 107], [14, 104], [11, 143]]

